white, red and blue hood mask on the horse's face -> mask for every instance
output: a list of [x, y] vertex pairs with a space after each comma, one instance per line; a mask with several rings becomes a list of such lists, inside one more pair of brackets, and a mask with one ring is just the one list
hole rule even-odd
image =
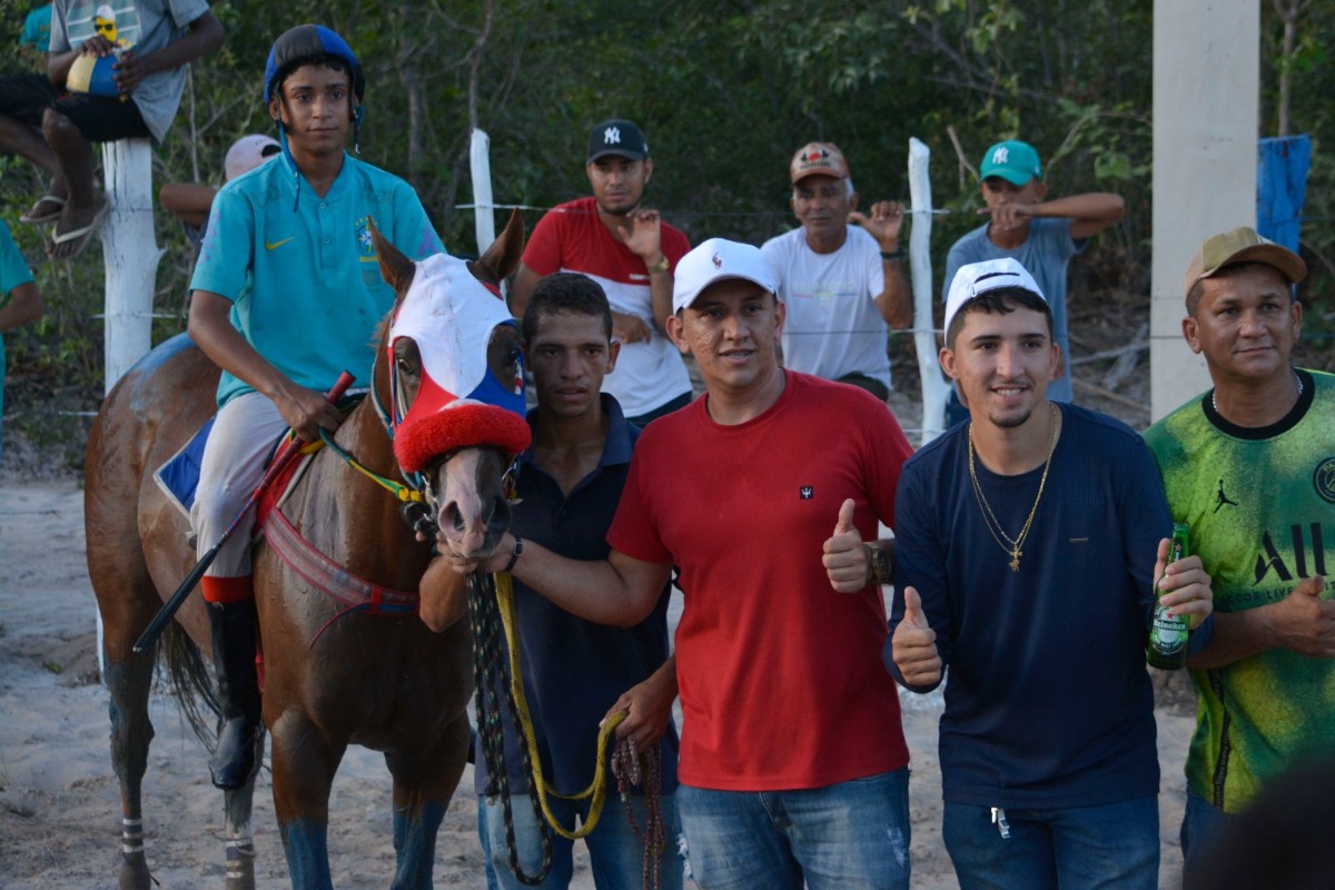
[[505, 302], [487, 294], [463, 260], [437, 254], [417, 263], [413, 286], [390, 323], [394, 344], [411, 338], [422, 358], [417, 399], [402, 419], [402, 394], [392, 383], [394, 454], [406, 472], [421, 472], [445, 454], [493, 446], [517, 455], [529, 447], [523, 367], [499, 380], [487, 364], [498, 324], [514, 326]]

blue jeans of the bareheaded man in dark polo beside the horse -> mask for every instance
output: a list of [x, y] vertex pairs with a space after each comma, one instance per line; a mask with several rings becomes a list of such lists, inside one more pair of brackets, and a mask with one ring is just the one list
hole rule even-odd
[[[635, 825], [643, 831], [645, 799], [630, 798], [635, 813]], [[529, 795], [511, 798], [514, 810], [514, 845], [519, 851], [519, 866], [525, 874], [534, 877], [542, 866], [542, 838], [533, 815]], [[551, 811], [567, 830], [575, 827], [575, 815], [581, 823], [589, 815], [587, 801], [562, 801], [547, 798]], [[677, 821], [677, 803], [672, 794], [661, 798], [665, 846], [658, 858], [659, 886], [663, 890], [681, 890], [682, 861], [677, 853], [677, 839], [681, 826]], [[550, 830], [550, 829], [549, 829]], [[482, 855], [487, 861], [487, 887], [490, 890], [519, 890], [525, 886], [510, 870], [510, 851], [505, 843], [505, 811], [501, 798], [478, 798], [478, 837], [482, 841]], [[598, 818], [598, 827], [585, 838], [589, 847], [589, 863], [598, 890], [642, 890], [645, 886], [645, 845], [635, 835], [626, 819], [626, 807], [615, 790], [607, 794]], [[551, 831], [551, 871], [539, 887], [565, 890], [570, 886], [574, 871], [574, 845], [555, 831]]]

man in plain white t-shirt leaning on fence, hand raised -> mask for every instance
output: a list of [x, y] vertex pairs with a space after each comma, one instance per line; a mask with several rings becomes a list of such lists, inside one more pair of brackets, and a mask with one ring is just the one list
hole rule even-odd
[[[904, 207], [857, 212], [848, 161], [833, 143], [809, 143], [789, 164], [793, 213], [802, 224], [761, 247], [788, 307], [784, 366], [890, 394], [888, 327], [913, 322], [900, 226]], [[849, 226], [849, 220], [857, 226]]]

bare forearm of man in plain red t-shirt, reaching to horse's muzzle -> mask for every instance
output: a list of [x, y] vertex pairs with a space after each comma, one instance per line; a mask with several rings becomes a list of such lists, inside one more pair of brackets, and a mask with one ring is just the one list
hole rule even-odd
[[[497, 572], [505, 571], [513, 552], [514, 536], [506, 532], [485, 559], [454, 554], [449, 559], [461, 574]], [[599, 624], [631, 627], [653, 611], [672, 574], [672, 563], [643, 562], [619, 550], [613, 550], [607, 559], [570, 559], [526, 540], [510, 572], [571, 615]]]

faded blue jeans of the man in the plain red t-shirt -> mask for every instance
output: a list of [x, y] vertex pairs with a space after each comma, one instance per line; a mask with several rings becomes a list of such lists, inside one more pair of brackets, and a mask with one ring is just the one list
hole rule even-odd
[[797, 791], [680, 786], [690, 875], [702, 890], [906, 890], [909, 771]]

